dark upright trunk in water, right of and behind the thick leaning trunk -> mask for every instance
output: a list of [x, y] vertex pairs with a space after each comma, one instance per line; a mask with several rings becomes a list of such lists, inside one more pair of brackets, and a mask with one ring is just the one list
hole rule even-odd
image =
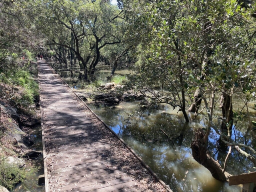
[[[232, 135], [234, 114], [232, 110], [233, 106], [231, 102], [231, 97], [228, 94], [222, 93], [222, 96], [220, 99], [220, 107], [222, 109], [222, 117], [226, 119], [226, 120], [222, 120], [222, 124], [221, 124], [222, 132], [225, 135], [228, 135], [228, 129], [229, 129], [229, 135]], [[226, 124], [230, 124], [230, 127], [228, 128]], [[226, 144], [224, 144], [221, 138], [219, 138], [218, 143], [219, 143], [219, 146], [218, 146], [219, 150], [222, 150], [222, 151], [227, 150], [227, 146]]]

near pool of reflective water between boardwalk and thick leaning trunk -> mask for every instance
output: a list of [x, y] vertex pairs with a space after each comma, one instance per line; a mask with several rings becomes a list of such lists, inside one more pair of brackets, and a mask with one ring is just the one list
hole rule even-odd
[[[99, 108], [94, 104], [89, 106], [174, 192], [241, 191], [239, 186], [228, 186], [228, 183], [212, 178], [210, 172], [192, 158], [190, 144], [194, 138], [194, 128], [204, 125], [202, 116], [188, 124], [183, 121], [182, 115], [174, 115], [176, 110], [171, 111], [172, 108], [165, 105], [161, 110], [151, 110], [150, 116], [147, 115], [149, 111], [144, 111], [139, 121], [129, 118], [130, 123], [127, 124], [129, 114], [140, 111], [137, 102], [126, 102], [115, 108]], [[175, 146], [166, 139], [161, 129], [172, 137]], [[211, 143], [214, 143], [215, 138], [211, 139]]]

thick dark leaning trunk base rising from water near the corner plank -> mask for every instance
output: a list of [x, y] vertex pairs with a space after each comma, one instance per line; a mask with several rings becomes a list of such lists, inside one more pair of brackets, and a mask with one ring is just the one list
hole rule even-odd
[[194, 160], [207, 168], [212, 176], [219, 181], [227, 181], [230, 174], [223, 172], [220, 164], [215, 161], [207, 152], [207, 144], [204, 142], [204, 132], [198, 128], [195, 138], [191, 144]]

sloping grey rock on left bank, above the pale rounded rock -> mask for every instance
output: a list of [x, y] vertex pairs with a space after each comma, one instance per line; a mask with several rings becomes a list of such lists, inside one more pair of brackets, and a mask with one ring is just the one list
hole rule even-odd
[[28, 146], [30, 145], [30, 141], [26, 137], [23, 136], [26, 133], [24, 133], [22, 130], [20, 130], [18, 125], [14, 124], [14, 123], [10, 123], [8, 125], [8, 128], [9, 128], [9, 130], [8, 130], [9, 136], [11, 138], [13, 138], [14, 140], [16, 140], [20, 147], [28, 148]]

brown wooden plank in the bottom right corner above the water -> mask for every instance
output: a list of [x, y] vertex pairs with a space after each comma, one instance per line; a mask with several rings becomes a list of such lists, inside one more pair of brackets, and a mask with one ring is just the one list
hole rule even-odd
[[246, 183], [256, 182], [256, 172], [250, 172], [245, 174], [240, 174], [236, 176], [231, 176], [229, 178], [229, 185], [239, 185]]

